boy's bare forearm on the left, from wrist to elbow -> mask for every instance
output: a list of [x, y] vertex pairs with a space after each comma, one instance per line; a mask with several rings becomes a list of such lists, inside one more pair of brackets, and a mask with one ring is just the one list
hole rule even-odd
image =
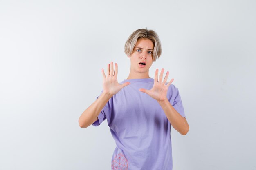
[[101, 110], [106, 105], [108, 100], [112, 97], [112, 95], [106, 95], [102, 93], [97, 100], [95, 100], [79, 117], [79, 126], [81, 128], [87, 128], [94, 121], [97, 120], [97, 117], [101, 113]]

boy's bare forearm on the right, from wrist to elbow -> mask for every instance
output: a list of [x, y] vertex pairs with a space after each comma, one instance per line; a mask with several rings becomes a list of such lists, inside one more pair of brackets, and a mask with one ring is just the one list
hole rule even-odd
[[189, 124], [187, 123], [186, 118], [182, 117], [182, 115], [180, 115], [180, 113], [173, 108], [167, 98], [164, 101], [157, 102], [164, 110], [164, 113], [166, 114], [166, 117], [173, 128], [175, 128], [175, 130], [177, 130], [180, 134], [186, 135], [186, 133], [189, 131]]

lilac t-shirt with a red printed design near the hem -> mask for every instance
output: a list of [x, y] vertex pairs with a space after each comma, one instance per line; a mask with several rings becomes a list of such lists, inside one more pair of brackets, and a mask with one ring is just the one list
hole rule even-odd
[[[99, 126], [105, 119], [108, 121], [117, 145], [112, 170], [172, 170], [171, 124], [159, 103], [139, 91], [151, 89], [154, 79], [126, 79], [119, 84], [124, 82], [131, 84], [112, 96], [101, 110], [99, 120], [92, 124]], [[168, 88], [167, 99], [186, 117], [179, 90], [173, 84]]]

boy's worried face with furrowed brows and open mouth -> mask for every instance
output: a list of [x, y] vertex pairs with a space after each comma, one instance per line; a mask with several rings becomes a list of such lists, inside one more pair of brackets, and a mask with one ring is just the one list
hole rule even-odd
[[[135, 73], [148, 73], [149, 68], [153, 63], [153, 42], [149, 39], [140, 38], [137, 40], [132, 55], [130, 57], [131, 61], [131, 71]], [[140, 62], [145, 62], [146, 65], [139, 64]]]

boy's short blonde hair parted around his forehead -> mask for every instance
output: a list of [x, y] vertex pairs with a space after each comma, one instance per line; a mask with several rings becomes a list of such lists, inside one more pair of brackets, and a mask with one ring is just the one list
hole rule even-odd
[[137, 29], [134, 31], [124, 45], [124, 53], [128, 56], [132, 55], [133, 49], [140, 38], [147, 38], [153, 42], [153, 61], [159, 58], [162, 53], [160, 39], [155, 31], [148, 29]]

